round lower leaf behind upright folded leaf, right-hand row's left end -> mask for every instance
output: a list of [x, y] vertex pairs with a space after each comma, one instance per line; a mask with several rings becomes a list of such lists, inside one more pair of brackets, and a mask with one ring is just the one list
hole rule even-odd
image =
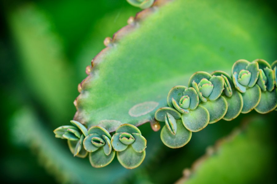
[[177, 132], [173, 135], [166, 126], [162, 128], [161, 140], [169, 148], [181, 148], [191, 140], [192, 132], [184, 127], [181, 120], [177, 120]]

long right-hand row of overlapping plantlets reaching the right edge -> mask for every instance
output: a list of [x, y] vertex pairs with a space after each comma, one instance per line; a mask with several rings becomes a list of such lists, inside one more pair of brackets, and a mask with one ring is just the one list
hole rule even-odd
[[252, 109], [262, 114], [276, 109], [276, 67], [277, 61], [270, 66], [263, 59], [240, 59], [231, 77], [224, 71], [194, 73], [188, 87], [173, 87], [167, 96], [168, 107], [155, 112], [155, 119], [165, 122], [161, 140], [170, 148], [180, 148], [190, 141], [192, 132], [220, 119], [231, 121]]

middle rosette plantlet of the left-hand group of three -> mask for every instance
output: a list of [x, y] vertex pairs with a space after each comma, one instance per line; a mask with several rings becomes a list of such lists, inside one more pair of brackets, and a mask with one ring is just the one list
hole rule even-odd
[[83, 141], [86, 151], [90, 152], [89, 159], [92, 167], [105, 167], [114, 159], [115, 151], [111, 146], [109, 132], [100, 126], [88, 129], [88, 135]]

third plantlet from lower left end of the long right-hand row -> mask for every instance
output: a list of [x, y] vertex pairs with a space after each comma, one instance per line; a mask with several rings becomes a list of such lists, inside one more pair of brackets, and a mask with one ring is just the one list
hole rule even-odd
[[189, 79], [189, 87], [193, 87], [196, 90], [199, 99], [202, 101], [201, 105], [209, 112], [209, 123], [219, 121], [227, 112], [227, 101], [223, 96], [220, 96], [224, 90], [224, 83], [226, 83], [227, 87], [226, 93], [229, 96], [232, 95], [228, 80], [224, 80], [221, 75], [212, 76], [207, 72], [199, 71], [194, 73]]

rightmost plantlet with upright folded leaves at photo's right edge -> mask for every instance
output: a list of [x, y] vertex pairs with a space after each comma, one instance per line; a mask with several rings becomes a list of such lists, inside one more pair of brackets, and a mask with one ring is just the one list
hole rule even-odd
[[272, 70], [269, 63], [263, 59], [255, 60], [259, 64], [259, 78], [257, 84], [260, 86], [261, 100], [255, 107], [258, 113], [268, 113], [277, 107], [277, 90], [275, 87], [275, 71]]

